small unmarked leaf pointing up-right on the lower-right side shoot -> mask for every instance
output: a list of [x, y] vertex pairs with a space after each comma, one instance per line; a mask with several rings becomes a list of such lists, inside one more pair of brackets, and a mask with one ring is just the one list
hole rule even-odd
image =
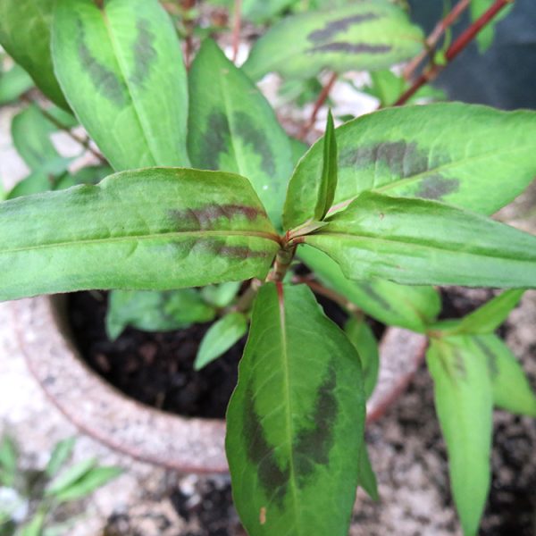
[[448, 333], [487, 334], [497, 330], [519, 303], [523, 293], [524, 289], [512, 289], [499, 294], [473, 313], [467, 314], [453, 328], [448, 329]]

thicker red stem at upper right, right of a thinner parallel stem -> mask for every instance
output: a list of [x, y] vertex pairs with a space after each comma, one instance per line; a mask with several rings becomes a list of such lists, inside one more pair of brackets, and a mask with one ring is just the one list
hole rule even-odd
[[[474, 21], [473, 24], [466, 29], [465, 32], [448, 48], [448, 51], [445, 54], [447, 64], [451, 63], [456, 56], [465, 49], [465, 46], [469, 45], [469, 43], [473, 41], [473, 38], [475, 38], [479, 32], [498, 15], [501, 10], [507, 7], [508, 4], [512, 4], [514, 1], [515, 0], [496, 0], [495, 4], [493, 4], [486, 13], [483, 13], [482, 17]], [[423, 74], [417, 80], [415, 80], [412, 87], [407, 89], [407, 91], [400, 96], [400, 98], [398, 98], [398, 101], [394, 104], [394, 106], [406, 104], [406, 102], [412, 96], [414, 96], [420, 88], [431, 80], [435, 80], [445, 66], [446, 65], [434, 65], [430, 71], [423, 72]]]

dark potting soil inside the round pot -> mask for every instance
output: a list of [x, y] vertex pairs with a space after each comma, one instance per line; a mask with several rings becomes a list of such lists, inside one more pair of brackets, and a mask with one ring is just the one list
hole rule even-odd
[[131, 398], [187, 416], [223, 418], [238, 379], [245, 339], [203, 370], [194, 371], [209, 323], [166, 333], [127, 328], [111, 341], [105, 331], [107, 295], [71, 295], [71, 327], [89, 366]]

